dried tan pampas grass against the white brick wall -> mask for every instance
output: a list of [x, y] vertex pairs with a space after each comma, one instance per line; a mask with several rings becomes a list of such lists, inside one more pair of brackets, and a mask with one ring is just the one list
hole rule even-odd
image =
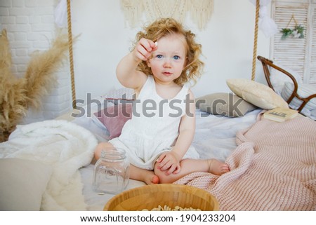
[[35, 52], [25, 76], [11, 73], [11, 50], [6, 34], [0, 36], [0, 142], [6, 141], [15, 126], [22, 121], [27, 109], [40, 109], [42, 97], [56, 84], [55, 72], [68, 50], [67, 35], [58, 36], [50, 49]]

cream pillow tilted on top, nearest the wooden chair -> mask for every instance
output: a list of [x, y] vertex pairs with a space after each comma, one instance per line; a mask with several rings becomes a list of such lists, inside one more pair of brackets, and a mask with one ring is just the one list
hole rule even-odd
[[226, 83], [233, 93], [261, 109], [289, 108], [281, 96], [262, 83], [249, 79], [228, 79]]

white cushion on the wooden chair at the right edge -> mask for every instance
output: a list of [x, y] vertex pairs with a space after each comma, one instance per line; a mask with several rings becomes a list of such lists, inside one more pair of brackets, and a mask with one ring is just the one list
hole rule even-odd
[[[282, 89], [281, 96], [284, 100], [288, 100], [291, 94], [294, 90], [294, 83], [291, 82], [285, 82], [284, 88]], [[299, 83], [298, 89], [297, 89], [298, 95], [301, 97], [308, 97], [312, 94], [316, 94], [316, 86], [312, 84], [307, 83]], [[302, 101], [298, 100], [298, 98], [294, 97], [293, 100], [289, 103], [289, 106], [292, 109], [298, 109], [298, 107], [301, 105]], [[305, 109], [308, 109], [312, 111], [313, 109], [316, 109], [316, 97], [311, 99], [307, 104], [305, 104]]]

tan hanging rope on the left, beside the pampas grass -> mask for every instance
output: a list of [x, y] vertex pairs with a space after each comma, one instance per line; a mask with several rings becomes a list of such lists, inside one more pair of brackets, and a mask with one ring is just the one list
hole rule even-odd
[[74, 87], [74, 60], [72, 55], [72, 15], [70, 10], [70, 1], [67, 0], [67, 24], [68, 24], [68, 41], [69, 41], [69, 60], [70, 60], [70, 75], [72, 82], [72, 108], [76, 109], [76, 90]]

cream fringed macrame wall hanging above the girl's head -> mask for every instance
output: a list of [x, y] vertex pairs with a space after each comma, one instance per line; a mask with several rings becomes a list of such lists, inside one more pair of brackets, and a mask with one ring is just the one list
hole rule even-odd
[[174, 18], [184, 22], [187, 13], [202, 30], [211, 19], [213, 0], [121, 0], [126, 23], [135, 28], [145, 14], [148, 22], [159, 18]]

